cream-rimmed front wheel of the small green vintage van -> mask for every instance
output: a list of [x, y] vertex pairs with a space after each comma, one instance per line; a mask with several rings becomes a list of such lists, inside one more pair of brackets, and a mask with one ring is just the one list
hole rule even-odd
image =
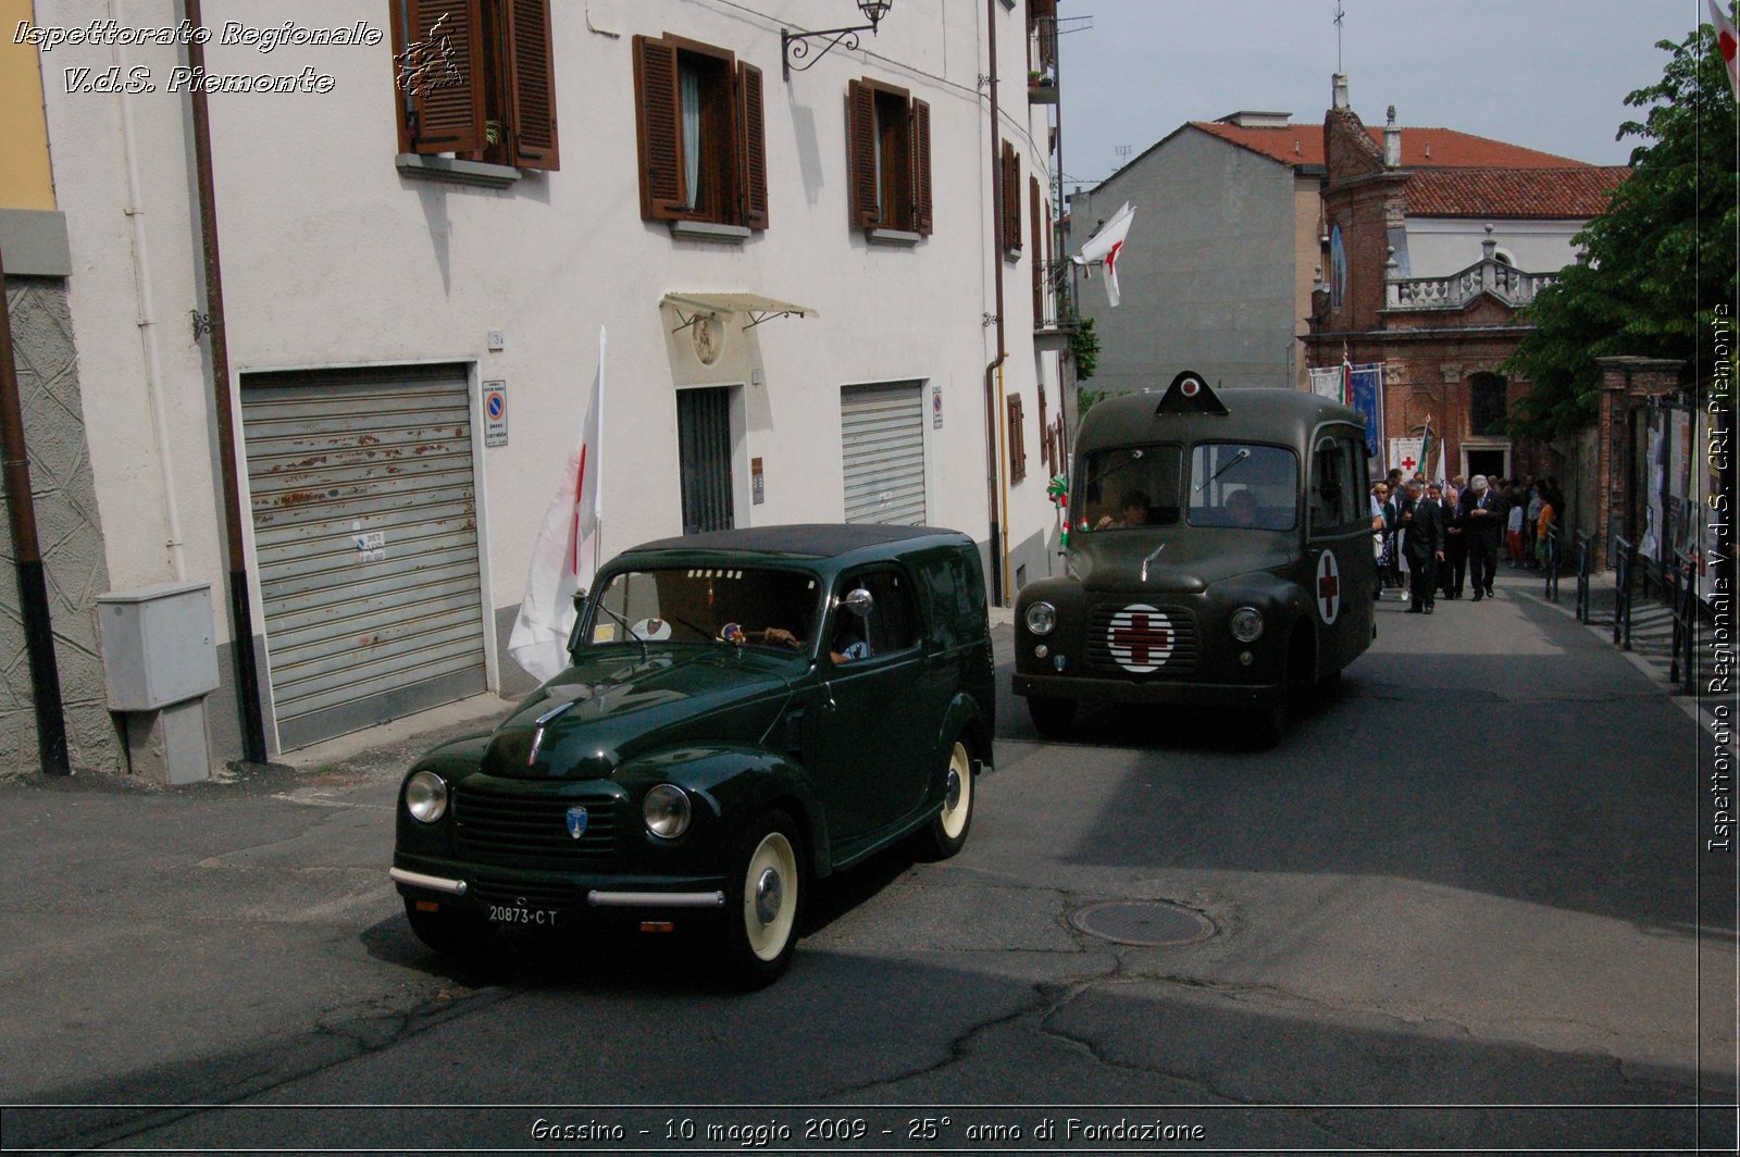
[[797, 839], [790, 816], [767, 813], [743, 842], [731, 877], [722, 948], [731, 981], [745, 988], [771, 985], [792, 962], [804, 893]]

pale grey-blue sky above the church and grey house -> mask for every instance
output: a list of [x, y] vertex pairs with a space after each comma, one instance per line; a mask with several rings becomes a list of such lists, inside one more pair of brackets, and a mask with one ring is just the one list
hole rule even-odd
[[[1093, 186], [1187, 120], [1237, 110], [1322, 124], [1336, 0], [1061, 0], [1067, 190]], [[1705, 0], [1342, 0], [1354, 111], [1601, 165], [1636, 137], [1625, 94], [1662, 77], [1658, 40], [1707, 21]], [[1089, 17], [1089, 19], [1070, 19]], [[1091, 28], [1089, 28], [1091, 26]], [[1086, 31], [1068, 31], [1088, 28]]]

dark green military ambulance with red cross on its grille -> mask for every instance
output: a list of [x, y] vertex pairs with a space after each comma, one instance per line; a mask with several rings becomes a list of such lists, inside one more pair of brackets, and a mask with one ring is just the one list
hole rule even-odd
[[1075, 438], [1067, 574], [1016, 602], [1014, 692], [1046, 736], [1079, 703], [1235, 708], [1260, 745], [1371, 645], [1359, 411], [1195, 374], [1107, 398]]

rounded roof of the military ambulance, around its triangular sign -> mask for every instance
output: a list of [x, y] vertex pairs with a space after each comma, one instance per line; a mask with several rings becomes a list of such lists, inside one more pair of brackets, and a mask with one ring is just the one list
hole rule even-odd
[[1096, 402], [1082, 418], [1075, 438], [1077, 452], [1131, 442], [1215, 438], [1220, 430], [1241, 440], [1295, 445], [1302, 440], [1302, 428], [1308, 433], [1310, 426], [1322, 421], [1347, 421], [1355, 426], [1366, 421], [1359, 411], [1303, 390], [1270, 386], [1220, 390], [1215, 398], [1227, 409], [1225, 414], [1157, 414], [1164, 397], [1166, 390], [1150, 390]]

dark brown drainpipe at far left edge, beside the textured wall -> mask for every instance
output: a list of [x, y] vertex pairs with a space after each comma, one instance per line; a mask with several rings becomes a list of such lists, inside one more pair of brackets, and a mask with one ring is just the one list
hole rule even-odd
[[66, 759], [66, 717], [61, 713], [61, 670], [54, 659], [54, 625], [49, 618], [49, 579], [37, 543], [37, 506], [30, 491], [30, 451], [24, 445], [24, 407], [12, 362], [12, 313], [5, 301], [5, 259], [0, 257], [0, 444], [5, 452], [5, 510], [12, 524], [12, 564], [17, 569], [24, 651], [30, 656], [30, 691], [37, 705], [37, 755], [49, 776], [73, 774]]

